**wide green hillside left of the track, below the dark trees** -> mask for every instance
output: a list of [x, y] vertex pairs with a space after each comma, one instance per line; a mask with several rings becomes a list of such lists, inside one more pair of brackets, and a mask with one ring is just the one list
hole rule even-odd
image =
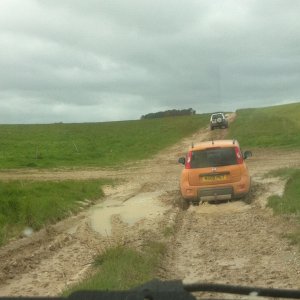
[[1, 125], [0, 168], [118, 166], [208, 123], [208, 115], [85, 124]]

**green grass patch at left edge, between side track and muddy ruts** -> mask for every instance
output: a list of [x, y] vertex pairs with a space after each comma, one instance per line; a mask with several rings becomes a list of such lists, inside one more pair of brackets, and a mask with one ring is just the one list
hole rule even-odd
[[0, 182], [0, 244], [20, 236], [24, 228], [39, 230], [103, 196], [107, 180]]

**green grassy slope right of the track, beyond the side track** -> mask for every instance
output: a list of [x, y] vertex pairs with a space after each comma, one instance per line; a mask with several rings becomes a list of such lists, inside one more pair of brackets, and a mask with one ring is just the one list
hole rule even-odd
[[300, 147], [300, 103], [241, 109], [230, 127], [230, 138], [243, 147]]

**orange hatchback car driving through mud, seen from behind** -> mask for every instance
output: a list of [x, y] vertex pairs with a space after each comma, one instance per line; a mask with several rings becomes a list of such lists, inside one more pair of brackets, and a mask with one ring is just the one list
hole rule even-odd
[[236, 140], [216, 140], [192, 146], [178, 162], [185, 165], [180, 190], [187, 203], [238, 199], [249, 193], [251, 179]]

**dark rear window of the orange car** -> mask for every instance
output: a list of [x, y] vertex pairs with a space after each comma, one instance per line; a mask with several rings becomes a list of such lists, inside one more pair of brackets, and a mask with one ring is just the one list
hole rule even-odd
[[237, 158], [234, 147], [210, 148], [193, 151], [191, 157], [191, 168], [207, 168], [236, 165]]

